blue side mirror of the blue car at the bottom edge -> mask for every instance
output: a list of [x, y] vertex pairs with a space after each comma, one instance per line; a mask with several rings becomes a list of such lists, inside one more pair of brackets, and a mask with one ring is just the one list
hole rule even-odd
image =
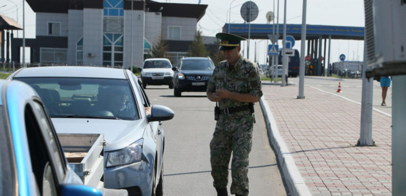
[[62, 184], [61, 190], [63, 196], [103, 196], [99, 189], [81, 184]]

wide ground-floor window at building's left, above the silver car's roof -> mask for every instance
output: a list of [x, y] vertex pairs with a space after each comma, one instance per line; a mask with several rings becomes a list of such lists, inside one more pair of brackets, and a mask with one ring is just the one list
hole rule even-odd
[[66, 64], [67, 49], [65, 48], [41, 48], [42, 64]]

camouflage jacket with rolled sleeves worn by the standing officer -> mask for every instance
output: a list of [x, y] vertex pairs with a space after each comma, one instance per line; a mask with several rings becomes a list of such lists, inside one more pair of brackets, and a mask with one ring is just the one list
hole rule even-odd
[[[207, 92], [216, 93], [216, 89], [226, 89], [241, 94], [249, 93], [259, 99], [262, 96], [262, 90], [258, 66], [256, 63], [245, 59], [243, 55], [240, 56], [233, 69], [230, 69], [227, 61], [218, 63], [207, 83]], [[219, 107], [222, 109], [242, 105], [248, 105], [248, 102], [234, 99], [219, 101]]]

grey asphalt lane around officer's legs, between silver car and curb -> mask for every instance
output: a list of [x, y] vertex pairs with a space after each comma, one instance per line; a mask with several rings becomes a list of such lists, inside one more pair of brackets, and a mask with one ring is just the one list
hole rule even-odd
[[[165, 151], [163, 190], [165, 196], [217, 195], [210, 175], [209, 143], [214, 131], [215, 104], [205, 93], [182, 93], [174, 97], [168, 86], [147, 86], [152, 104], [165, 105], [175, 111], [171, 121], [163, 122]], [[255, 104], [253, 146], [250, 153], [250, 195], [284, 196], [286, 190], [270, 147], [264, 117]], [[229, 166], [231, 168], [231, 166]], [[228, 191], [231, 184], [229, 174]], [[230, 192], [229, 192], [230, 195]]]

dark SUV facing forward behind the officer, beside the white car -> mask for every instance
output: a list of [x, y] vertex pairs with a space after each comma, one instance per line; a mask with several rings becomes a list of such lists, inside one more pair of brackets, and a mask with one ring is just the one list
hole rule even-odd
[[214, 70], [209, 57], [188, 57], [180, 60], [178, 67], [173, 67], [174, 95], [180, 97], [182, 92], [206, 92], [207, 81]]

